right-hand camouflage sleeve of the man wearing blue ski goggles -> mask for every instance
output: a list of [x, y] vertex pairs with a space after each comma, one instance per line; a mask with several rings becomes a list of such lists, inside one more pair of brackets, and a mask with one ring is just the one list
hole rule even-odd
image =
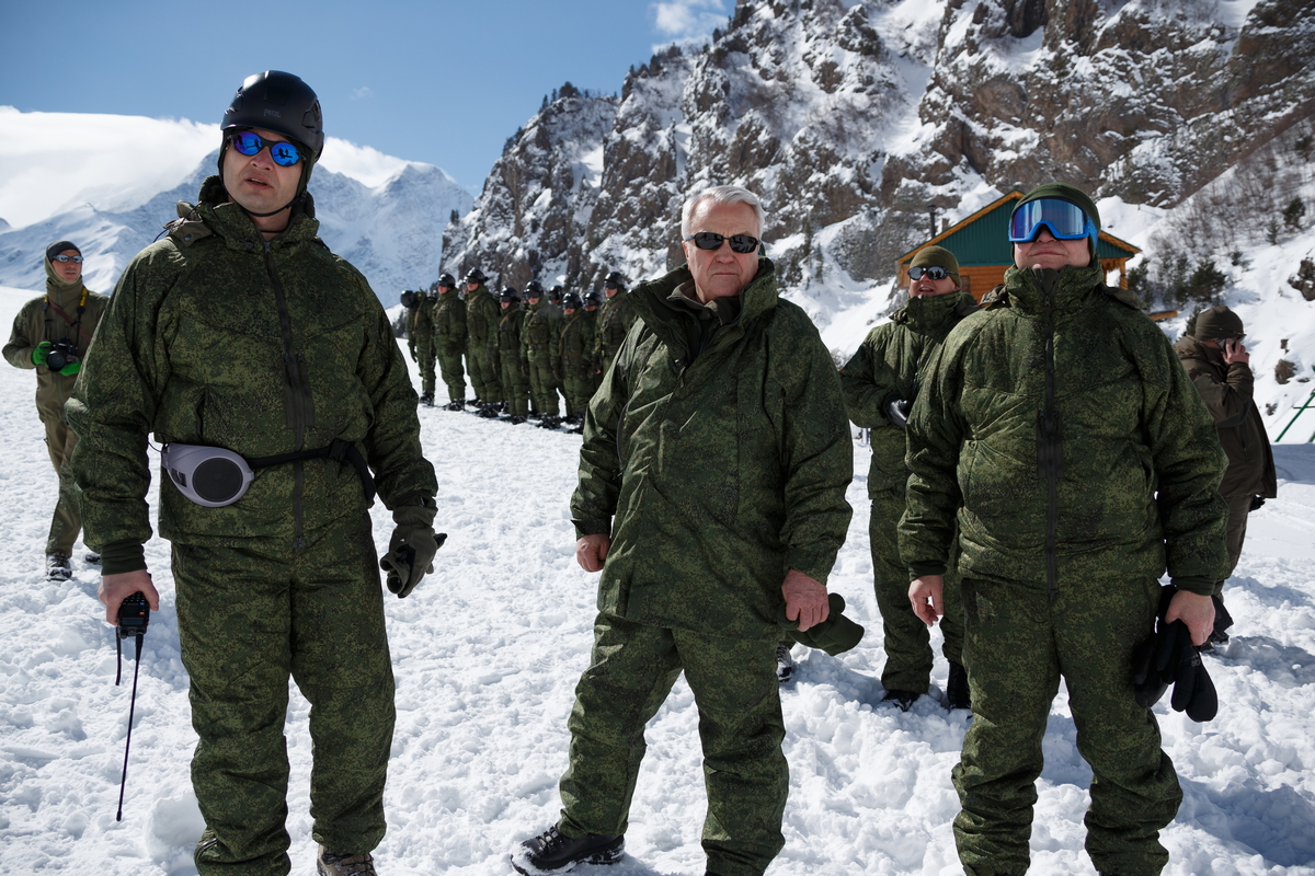
[[1153, 324], [1137, 326], [1153, 355], [1139, 362], [1144, 385], [1141, 423], [1159, 487], [1169, 578], [1180, 590], [1208, 595], [1228, 574], [1227, 504], [1219, 483], [1228, 457], [1214, 418], [1169, 340]]

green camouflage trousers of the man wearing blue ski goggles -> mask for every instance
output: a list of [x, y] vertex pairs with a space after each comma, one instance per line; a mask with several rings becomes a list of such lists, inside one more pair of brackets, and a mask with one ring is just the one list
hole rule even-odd
[[1134, 700], [1132, 651], [1151, 634], [1155, 579], [1044, 586], [965, 578], [961, 583], [973, 722], [953, 770], [963, 810], [959, 860], [969, 876], [1022, 873], [1041, 741], [1064, 679], [1077, 749], [1090, 764], [1086, 851], [1101, 872], [1159, 873], [1169, 862], [1160, 829], [1182, 801], [1151, 709]]

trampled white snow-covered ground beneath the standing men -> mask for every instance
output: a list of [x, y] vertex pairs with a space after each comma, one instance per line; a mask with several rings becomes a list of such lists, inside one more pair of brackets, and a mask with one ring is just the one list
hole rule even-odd
[[[0, 288], [8, 327], [30, 290]], [[114, 687], [114, 640], [97, 573], [42, 579], [55, 475], [30, 372], [0, 366], [0, 873], [192, 873], [201, 818], [195, 745], [178, 653], [168, 545], [147, 561], [162, 592], [141, 667], [124, 821], [114, 821], [129, 684]], [[509, 873], [513, 842], [556, 818], [565, 718], [592, 640], [596, 579], [572, 559], [567, 502], [579, 437], [421, 411], [439, 477], [438, 571], [387, 602], [398, 721], [380, 872]], [[782, 691], [790, 762], [786, 844], [772, 876], [960, 873], [949, 770], [968, 724], [935, 699], [882, 708], [884, 661], [872, 595], [864, 473], [855, 447], [851, 538], [831, 579], [868, 636], [831, 658], [803, 653]], [[1315, 445], [1276, 447], [1279, 496], [1252, 515], [1230, 582], [1233, 638], [1208, 667], [1222, 708], [1195, 724], [1156, 707], [1185, 801], [1164, 833], [1173, 876], [1315, 873]], [[153, 499], [154, 503], [154, 499]], [[375, 508], [375, 541], [391, 520]], [[939, 632], [934, 633], [939, 647]], [[130, 679], [132, 663], [125, 661]], [[938, 658], [934, 684], [943, 686]], [[939, 688], [935, 695], [939, 695]], [[288, 827], [293, 872], [314, 847], [308, 814], [308, 707], [293, 691]], [[1090, 772], [1065, 696], [1051, 713], [1032, 833], [1034, 873], [1093, 873], [1082, 851]], [[694, 875], [704, 789], [693, 697], [680, 682], [648, 729], [626, 837], [608, 876]]]

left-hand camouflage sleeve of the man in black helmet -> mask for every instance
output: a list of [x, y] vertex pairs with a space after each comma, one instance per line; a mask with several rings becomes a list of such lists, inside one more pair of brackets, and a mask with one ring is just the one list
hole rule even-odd
[[[170, 377], [168, 359], [156, 355], [155, 328], [160, 301], [175, 278], [170, 269], [175, 263], [166, 255], [171, 251], [167, 244], [151, 247], [129, 264], [97, 327], [96, 355], [83, 362], [64, 405], [78, 433], [72, 470], [84, 540], [93, 548], [143, 545], [151, 537], [146, 448]], [[112, 567], [109, 556], [107, 562], [105, 574], [133, 571]], [[130, 565], [145, 569], [143, 561]]]

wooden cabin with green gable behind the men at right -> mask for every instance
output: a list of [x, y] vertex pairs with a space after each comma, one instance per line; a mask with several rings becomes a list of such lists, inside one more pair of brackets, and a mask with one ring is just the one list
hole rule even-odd
[[[960, 288], [981, 301], [982, 296], [1005, 282], [1005, 269], [1014, 264], [1013, 246], [1009, 243], [1009, 217], [1023, 197], [1023, 192], [1015, 189], [899, 256], [896, 264], [899, 288], [909, 288], [909, 263], [918, 250], [936, 244], [955, 253], [959, 259]], [[1128, 259], [1139, 252], [1141, 251], [1127, 240], [1105, 231], [1101, 231], [1095, 247], [1106, 276], [1118, 271], [1119, 286], [1123, 289], [1128, 288]]]

